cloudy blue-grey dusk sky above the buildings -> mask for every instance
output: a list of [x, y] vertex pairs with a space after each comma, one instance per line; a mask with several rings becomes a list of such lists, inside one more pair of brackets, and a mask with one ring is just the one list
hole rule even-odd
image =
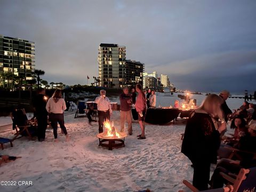
[[0, 34], [34, 41], [49, 83], [92, 81], [115, 43], [179, 89], [256, 91], [255, 0], [0, 0]]

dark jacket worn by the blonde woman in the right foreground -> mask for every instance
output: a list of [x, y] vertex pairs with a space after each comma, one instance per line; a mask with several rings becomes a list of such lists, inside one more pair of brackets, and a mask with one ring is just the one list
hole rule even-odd
[[220, 133], [215, 129], [209, 114], [190, 114], [181, 153], [185, 154], [192, 163], [217, 161], [217, 150], [220, 147]]

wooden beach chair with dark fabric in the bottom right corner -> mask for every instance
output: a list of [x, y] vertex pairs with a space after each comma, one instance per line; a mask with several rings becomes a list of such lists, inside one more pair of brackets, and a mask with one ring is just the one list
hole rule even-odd
[[[241, 169], [238, 175], [227, 175], [226, 173], [220, 173], [221, 176], [226, 179], [230, 185], [219, 189], [209, 189], [205, 191], [229, 191], [229, 192], [244, 192], [244, 191], [255, 191], [256, 190], [256, 167], [251, 169]], [[183, 180], [183, 183], [194, 192], [199, 191], [187, 180]], [[180, 191], [181, 192], [181, 191]]]

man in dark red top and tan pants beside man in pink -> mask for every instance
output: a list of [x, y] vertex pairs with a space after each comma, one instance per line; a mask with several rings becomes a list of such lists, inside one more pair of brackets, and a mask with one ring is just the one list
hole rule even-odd
[[129, 89], [125, 87], [123, 93], [119, 96], [120, 99], [120, 126], [121, 132], [124, 132], [124, 122], [128, 123], [128, 133], [132, 135], [132, 112], [131, 104], [132, 97], [129, 94]]

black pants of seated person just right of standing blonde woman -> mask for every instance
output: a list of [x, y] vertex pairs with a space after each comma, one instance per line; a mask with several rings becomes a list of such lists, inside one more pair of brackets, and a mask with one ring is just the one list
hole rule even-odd
[[226, 180], [220, 175], [220, 172], [223, 173], [235, 173], [238, 174], [242, 167], [239, 164], [231, 163], [229, 159], [222, 158], [217, 164], [216, 169], [212, 174], [211, 179], [211, 188], [217, 189], [222, 188]]

